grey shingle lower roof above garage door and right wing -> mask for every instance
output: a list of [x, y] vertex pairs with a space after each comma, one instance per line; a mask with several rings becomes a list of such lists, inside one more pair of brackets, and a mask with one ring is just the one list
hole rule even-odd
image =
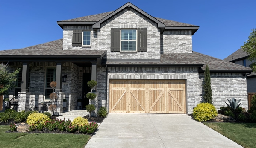
[[[208, 64], [211, 72], [250, 72], [251, 69], [235, 63], [224, 61], [218, 58], [214, 58], [208, 55], [204, 55], [198, 52], [193, 53], [167, 53], [161, 55], [161, 61], [139, 61], [139, 62], [118, 62], [118, 61], [106, 61], [106, 65], [122, 67], [124, 65], [142, 65], [145, 66], [155, 64], [157, 65], [177, 65], [180, 64], [202, 64], [202, 70], [205, 70], [206, 64]], [[204, 65], [203, 65], [204, 64]]]

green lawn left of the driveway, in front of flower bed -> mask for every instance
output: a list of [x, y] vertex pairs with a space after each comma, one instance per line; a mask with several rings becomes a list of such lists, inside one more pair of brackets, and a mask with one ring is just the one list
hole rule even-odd
[[0, 126], [0, 148], [84, 148], [91, 136], [50, 133], [5, 133]]

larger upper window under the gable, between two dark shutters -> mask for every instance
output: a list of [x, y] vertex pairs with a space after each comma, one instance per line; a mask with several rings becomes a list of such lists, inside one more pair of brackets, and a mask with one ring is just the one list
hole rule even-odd
[[121, 30], [121, 51], [137, 51], [137, 30]]

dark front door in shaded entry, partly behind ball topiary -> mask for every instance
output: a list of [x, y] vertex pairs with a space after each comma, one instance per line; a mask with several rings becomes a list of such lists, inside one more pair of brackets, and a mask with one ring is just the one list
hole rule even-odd
[[82, 75], [82, 109], [85, 109], [85, 106], [89, 104], [89, 99], [86, 98], [86, 94], [91, 91], [91, 88], [88, 87], [87, 83], [91, 80], [91, 73], [83, 73]]

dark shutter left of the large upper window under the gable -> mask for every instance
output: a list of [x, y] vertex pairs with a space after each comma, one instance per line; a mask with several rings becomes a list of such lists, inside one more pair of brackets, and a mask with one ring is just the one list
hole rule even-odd
[[111, 28], [111, 52], [120, 52], [120, 28]]

